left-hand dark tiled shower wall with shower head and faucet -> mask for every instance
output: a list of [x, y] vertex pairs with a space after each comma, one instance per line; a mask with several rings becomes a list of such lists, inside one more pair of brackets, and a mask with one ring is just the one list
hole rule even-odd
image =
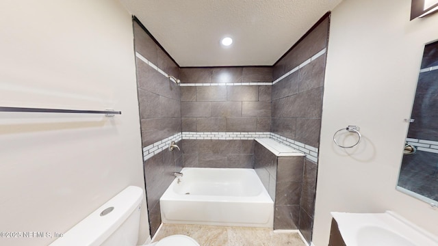
[[177, 84], [170, 82], [152, 64], [175, 77], [179, 77], [179, 67], [138, 23], [133, 22], [133, 29], [138, 54], [136, 66], [142, 147], [152, 146], [151, 150], [156, 149], [154, 155], [144, 161], [146, 200], [153, 235], [161, 223], [159, 197], [175, 178], [173, 172], [181, 170], [183, 157], [178, 150], [161, 151], [158, 146], [153, 146], [154, 143], [161, 143], [163, 139], [181, 133], [181, 92]]

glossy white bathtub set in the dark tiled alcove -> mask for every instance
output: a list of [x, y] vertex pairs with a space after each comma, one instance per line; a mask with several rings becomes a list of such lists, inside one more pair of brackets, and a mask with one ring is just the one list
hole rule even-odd
[[185, 167], [159, 200], [163, 223], [272, 228], [274, 202], [254, 169]]

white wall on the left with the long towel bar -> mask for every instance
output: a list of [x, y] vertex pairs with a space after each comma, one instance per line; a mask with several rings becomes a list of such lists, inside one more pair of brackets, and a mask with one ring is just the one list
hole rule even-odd
[[[0, 113], [0, 231], [66, 232], [125, 187], [144, 188], [131, 16], [117, 0], [0, 9], [0, 106], [122, 111]], [[144, 200], [140, 242], [148, 236]]]

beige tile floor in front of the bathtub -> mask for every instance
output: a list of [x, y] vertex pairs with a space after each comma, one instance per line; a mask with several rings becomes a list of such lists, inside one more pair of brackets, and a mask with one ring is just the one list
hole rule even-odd
[[165, 236], [191, 236], [201, 246], [305, 246], [296, 232], [273, 232], [267, 228], [164, 224], [154, 242]]

